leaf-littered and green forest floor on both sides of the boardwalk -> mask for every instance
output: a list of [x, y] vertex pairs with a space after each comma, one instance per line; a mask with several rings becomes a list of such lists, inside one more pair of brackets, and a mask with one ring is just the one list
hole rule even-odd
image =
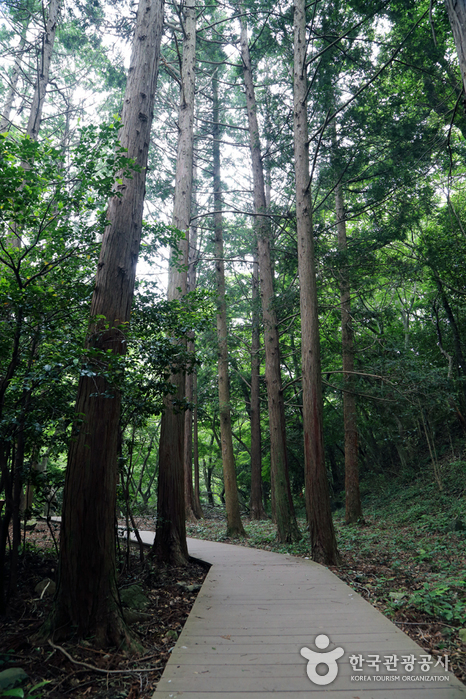
[[[458, 469], [450, 480], [445, 478], [441, 492], [429, 479], [387, 485], [372, 477], [371, 493], [363, 499], [364, 521], [347, 526], [343, 510], [334, 515], [343, 564], [332, 571], [427, 653], [448, 655], [450, 669], [466, 684], [466, 464], [459, 462]], [[141, 530], [155, 528], [151, 516], [139, 517], [136, 523]], [[277, 544], [270, 520], [245, 518], [244, 524], [247, 539], [229, 540], [223, 508], [205, 508], [203, 520], [188, 523], [188, 535], [309, 557], [304, 520], [299, 520], [302, 539], [287, 546]], [[149, 699], [206, 569], [157, 568], [148, 561], [142, 567], [138, 550], [131, 550], [130, 566], [123, 565], [119, 585], [120, 589], [139, 585], [148, 600], [143, 610], [148, 616], [132, 626], [145, 648], [142, 657], [130, 658], [118, 649], [98, 651], [77, 641], [38, 646], [33, 636], [50, 610], [52, 590], [42, 594], [35, 588], [41, 581], [56, 579], [57, 558], [45, 522], [28, 531], [26, 541], [19, 594], [0, 636], [0, 672], [21, 668], [29, 678], [23, 682], [26, 688], [43, 680], [48, 684], [17, 696]], [[124, 550], [120, 558], [125, 560]], [[107, 670], [128, 674], [107, 674]]]

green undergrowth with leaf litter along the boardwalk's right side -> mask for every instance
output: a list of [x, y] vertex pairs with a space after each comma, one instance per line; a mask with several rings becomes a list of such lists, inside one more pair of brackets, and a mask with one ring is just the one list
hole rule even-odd
[[[466, 680], [466, 462], [444, 461], [440, 491], [432, 474], [380, 476], [362, 484], [364, 520], [346, 525], [335, 513], [343, 557], [333, 572], [429, 652], [449, 653]], [[369, 490], [370, 488], [370, 490]], [[305, 521], [302, 538], [278, 544], [270, 520], [245, 521], [245, 546], [309, 558]], [[221, 511], [188, 524], [188, 535], [230, 541]]]

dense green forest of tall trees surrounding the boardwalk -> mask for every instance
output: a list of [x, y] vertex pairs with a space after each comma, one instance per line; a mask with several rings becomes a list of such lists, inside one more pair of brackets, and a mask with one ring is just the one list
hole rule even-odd
[[464, 681], [465, 3], [0, 0], [0, 75], [1, 618], [46, 555], [33, 645], [137, 653], [121, 576], [189, 534]]

